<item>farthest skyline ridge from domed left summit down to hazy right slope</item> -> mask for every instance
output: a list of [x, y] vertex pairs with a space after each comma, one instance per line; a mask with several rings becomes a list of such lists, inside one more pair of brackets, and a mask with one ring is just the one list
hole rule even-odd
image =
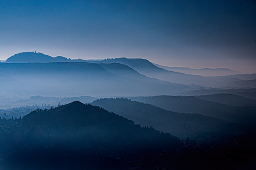
[[[97, 64], [119, 63], [129, 66], [134, 71], [163, 81], [182, 84], [198, 84], [206, 87], [234, 87], [232, 82], [240, 81], [237, 77], [203, 77], [200, 75], [190, 75], [174, 71], [165, 70], [141, 58], [112, 58], [106, 60], [70, 60], [65, 57], [51, 57], [42, 53], [25, 52], [11, 56], [6, 60], [7, 63], [26, 63], [26, 62], [89, 62]], [[103, 67], [103, 65], [102, 65]], [[107, 67], [107, 65], [105, 66]], [[112, 68], [113, 69], [113, 68]], [[107, 70], [107, 69], [106, 69]], [[123, 70], [125, 71], [125, 70]]]

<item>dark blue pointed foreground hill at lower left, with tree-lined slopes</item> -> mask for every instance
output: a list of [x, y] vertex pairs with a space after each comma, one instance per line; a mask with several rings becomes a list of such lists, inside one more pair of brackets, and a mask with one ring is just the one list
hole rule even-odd
[[104, 162], [106, 155], [121, 158], [181, 144], [171, 134], [79, 101], [0, 125], [0, 165], [13, 169], [118, 169], [111, 157]]

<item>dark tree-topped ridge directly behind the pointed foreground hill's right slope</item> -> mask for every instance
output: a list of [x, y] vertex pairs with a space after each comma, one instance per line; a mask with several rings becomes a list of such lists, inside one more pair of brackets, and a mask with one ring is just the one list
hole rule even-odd
[[133, 120], [142, 126], [153, 126], [163, 132], [170, 132], [181, 138], [195, 138], [211, 135], [212, 132], [230, 131], [227, 122], [199, 114], [175, 113], [165, 109], [131, 101], [124, 98], [106, 98], [93, 101], [100, 106]]

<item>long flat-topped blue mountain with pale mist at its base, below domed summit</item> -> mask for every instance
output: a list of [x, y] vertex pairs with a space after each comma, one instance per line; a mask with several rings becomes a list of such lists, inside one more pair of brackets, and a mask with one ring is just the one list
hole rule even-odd
[[150, 79], [123, 64], [102, 66], [86, 62], [1, 63], [0, 74], [8, 79], [0, 84], [0, 92], [23, 96], [151, 96], [181, 95], [189, 89]]

